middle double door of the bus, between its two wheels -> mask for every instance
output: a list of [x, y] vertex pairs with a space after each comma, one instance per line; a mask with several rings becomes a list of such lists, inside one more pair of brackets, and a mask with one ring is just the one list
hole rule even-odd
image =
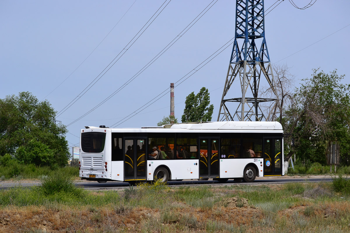
[[218, 152], [218, 138], [200, 138], [200, 178], [219, 177]]

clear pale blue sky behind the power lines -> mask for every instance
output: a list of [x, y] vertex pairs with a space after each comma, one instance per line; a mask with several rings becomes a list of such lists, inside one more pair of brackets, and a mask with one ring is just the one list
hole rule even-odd
[[[29, 91], [47, 99], [55, 110], [68, 105], [103, 71], [165, 0], [144, 1], [4, 1], [0, 0], [0, 98]], [[265, 9], [276, 0], [265, 0]], [[68, 125], [112, 94], [158, 54], [211, 2], [172, 0], [123, 57], [57, 120]], [[304, 0], [294, 0], [304, 6]], [[288, 0], [265, 17], [272, 63], [350, 24], [348, 0], [317, 0], [306, 10]], [[82, 61], [89, 58], [54, 92]], [[312, 69], [334, 69], [348, 75], [350, 26], [283, 59], [295, 85]], [[169, 50], [109, 101], [68, 126], [69, 145], [79, 142], [85, 125], [111, 126], [153, 99], [228, 42], [235, 35], [235, 1], [218, 0]], [[260, 46], [260, 45], [259, 45]], [[175, 116], [181, 121], [186, 96], [201, 87], [210, 91], [216, 120], [232, 46], [175, 87]], [[349, 83], [349, 77], [345, 77]], [[240, 87], [237, 96], [240, 97]], [[118, 127], [153, 126], [170, 113], [170, 94]], [[233, 110], [234, 111], [234, 110]], [[75, 135], [75, 136], [74, 136]]]

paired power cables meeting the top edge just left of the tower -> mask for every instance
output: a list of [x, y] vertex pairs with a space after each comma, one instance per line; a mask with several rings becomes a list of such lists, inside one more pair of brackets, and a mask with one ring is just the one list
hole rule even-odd
[[[85, 114], [83, 114], [82, 116], [80, 116], [78, 119], [74, 120], [73, 122], [69, 123], [67, 126], [70, 126], [71, 124], [79, 121], [80, 119], [82, 119], [83, 117], [85, 117], [86, 115], [90, 114], [92, 111], [94, 111], [95, 109], [97, 109], [99, 106], [101, 106], [102, 104], [104, 104], [106, 101], [108, 101], [109, 99], [111, 99], [114, 95], [116, 95], [118, 92], [120, 92], [120, 90], [122, 90], [124, 87], [126, 87], [130, 82], [132, 82], [135, 78], [137, 78], [142, 72], [144, 72], [150, 65], [152, 65], [158, 58], [160, 58], [162, 56], [163, 53], [165, 53], [171, 46], [173, 46], [177, 40], [179, 40], [198, 20], [201, 19], [201, 17], [208, 12], [208, 10], [214, 6], [214, 4], [218, 1], [216, 0], [211, 1], [209, 3], [209, 5], [207, 7], [204, 8], [204, 10], [202, 10], [202, 12], [200, 14], [197, 15], [197, 17], [195, 17], [195, 19], [190, 22], [181, 32], [179, 35], [177, 35], [167, 46], [165, 46], [165, 48], [163, 48], [151, 61], [149, 61], [144, 67], [141, 68], [141, 70], [139, 70], [133, 77], [131, 77], [129, 80], [127, 80], [122, 86], [120, 86], [115, 92], [113, 92], [111, 95], [109, 95], [106, 99], [104, 99], [102, 102], [100, 102], [99, 104], [97, 104], [95, 107], [93, 107], [92, 109], [90, 109], [88, 112], [86, 112]], [[214, 3], [213, 3], [214, 2]], [[204, 12], [204, 13], [203, 13]]]

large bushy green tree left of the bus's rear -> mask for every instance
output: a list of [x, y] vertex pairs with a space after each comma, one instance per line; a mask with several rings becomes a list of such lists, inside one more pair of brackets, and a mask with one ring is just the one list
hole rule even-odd
[[23, 163], [64, 166], [70, 156], [64, 125], [55, 123], [55, 110], [29, 92], [0, 99], [0, 155]]

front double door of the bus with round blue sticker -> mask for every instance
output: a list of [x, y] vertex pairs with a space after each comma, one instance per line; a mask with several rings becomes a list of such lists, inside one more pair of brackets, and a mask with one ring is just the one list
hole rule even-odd
[[282, 175], [282, 138], [264, 138], [264, 176]]

